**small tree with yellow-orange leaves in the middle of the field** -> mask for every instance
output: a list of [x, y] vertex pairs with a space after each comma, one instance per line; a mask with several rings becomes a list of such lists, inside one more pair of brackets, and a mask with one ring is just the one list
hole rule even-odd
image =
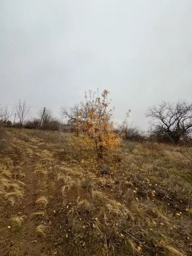
[[105, 152], [120, 144], [111, 120], [114, 107], [109, 109], [111, 100], [108, 95], [107, 90], [103, 91], [101, 97], [92, 91], [89, 91], [89, 95], [85, 93], [85, 102], [81, 103], [79, 118], [76, 119], [78, 132], [69, 139], [69, 144], [76, 149], [83, 147], [95, 152], [98, 160], [103, 158]]

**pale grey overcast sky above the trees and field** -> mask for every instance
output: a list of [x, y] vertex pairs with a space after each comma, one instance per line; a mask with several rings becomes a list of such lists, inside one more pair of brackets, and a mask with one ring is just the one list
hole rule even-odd
[[0, 103], [58, 115], [98, 87], [146, 128], [149, 105], [191, 101], [191, 31], [191, 0], [0, 0]]

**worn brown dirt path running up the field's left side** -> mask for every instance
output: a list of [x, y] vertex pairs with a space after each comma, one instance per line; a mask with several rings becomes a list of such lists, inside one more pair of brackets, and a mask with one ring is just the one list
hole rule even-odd
[[[11, 142], [12, 141], [12, 142]], [[24, 195], [13, 206], [7, 204], [1, 205], [0, 208], [0, 229], [4, 232], [4, 238], [0, 240], [0, 255], [45, 255], [43, 253], [43, 238], [37, 237], [35, 228], [38, 222], [31, 215], [37, 212], [35, 200], [37, 199], [37, 176], [33, 175], [37, 160], [29, 157], [27, 152], [27, 144], [24, 141], [15, 138], [10, 139], [12, 148], [14, 149], [13, 165], [22, 172], [21, 181], [25, 183]], [[9, 219], [18, 216], [23, 219], [21, 228], [12, 227]], [[8, 229], [8, 226], [10, 228]]]

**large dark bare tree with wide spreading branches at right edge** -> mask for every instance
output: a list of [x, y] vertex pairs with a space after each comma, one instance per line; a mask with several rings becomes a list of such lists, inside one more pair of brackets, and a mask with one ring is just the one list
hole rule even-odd
[[150, 133], [163, 140], [177, 143], [192, 133], [192, 103], [185, 100], [165, 102], [149, 107]]

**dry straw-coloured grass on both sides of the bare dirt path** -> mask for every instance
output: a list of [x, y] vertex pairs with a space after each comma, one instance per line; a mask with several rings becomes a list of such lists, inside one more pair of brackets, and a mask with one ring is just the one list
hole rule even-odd
[[[35, 153], [38, 153], [38, 160], [41, 158], [34, 165], [34, 174], [40, 172], [44, 175], [41, 179], [33, 175], [35, 185], [43, 195], [35, 204], [40, 209], [46, 207], [48, 195], [54, 191], [46, 214], [39, 210], [31, 214], [31, 221], [42, 221], [35, 232], [42, 236], [45, 253], [81, 256], [190, 255], [192, 188], [190, 182], [182, 178], [186, 170], [181, 169], [181, 165], [171, 157], [170, 152], [174, 152], [171, 147], [151, 145], [151, 142], [128, 142], [119, 150], [123, 161], [115, 163], [109, 154], [106, 161], [110, 171], [103, 174], [100, 163], [95, 163], [93, 156], [71, 152], [67, 144], [57, 137], [58, 133], [27, 130], [26, 134], [28, 138], [20, 138], [21, 141], [36, 143], [33, 157], [35, 159]], [[57, 157], [57, 152], [61, 151], [64, 156]], [[118, 152], [116, 155], [118, 158]], [[60, 158], [66, 161], [61, 162]], [[82, 159], [86, 164], [81, 164]], [[36, 160], [34, 162], [37, 163]], [[24, 184], [13, 180], [16, 169], [9, 158], [0, 164], [1, 198], [14, 203], [22, 196]], [[17, 174], [19, 172], [23, 173], [20, 167]], [[21, 175], [16, 177], [23, 178]], [[152, 194], [152, 191], [155, 192]], [[21, 227], [24, 223], [21, 221], [20, 226], [19, 221], [11, 222]], [[46, 242], [43, 239], [45, 234]], [[38, 247], [38, 243], [36, 245]]]

